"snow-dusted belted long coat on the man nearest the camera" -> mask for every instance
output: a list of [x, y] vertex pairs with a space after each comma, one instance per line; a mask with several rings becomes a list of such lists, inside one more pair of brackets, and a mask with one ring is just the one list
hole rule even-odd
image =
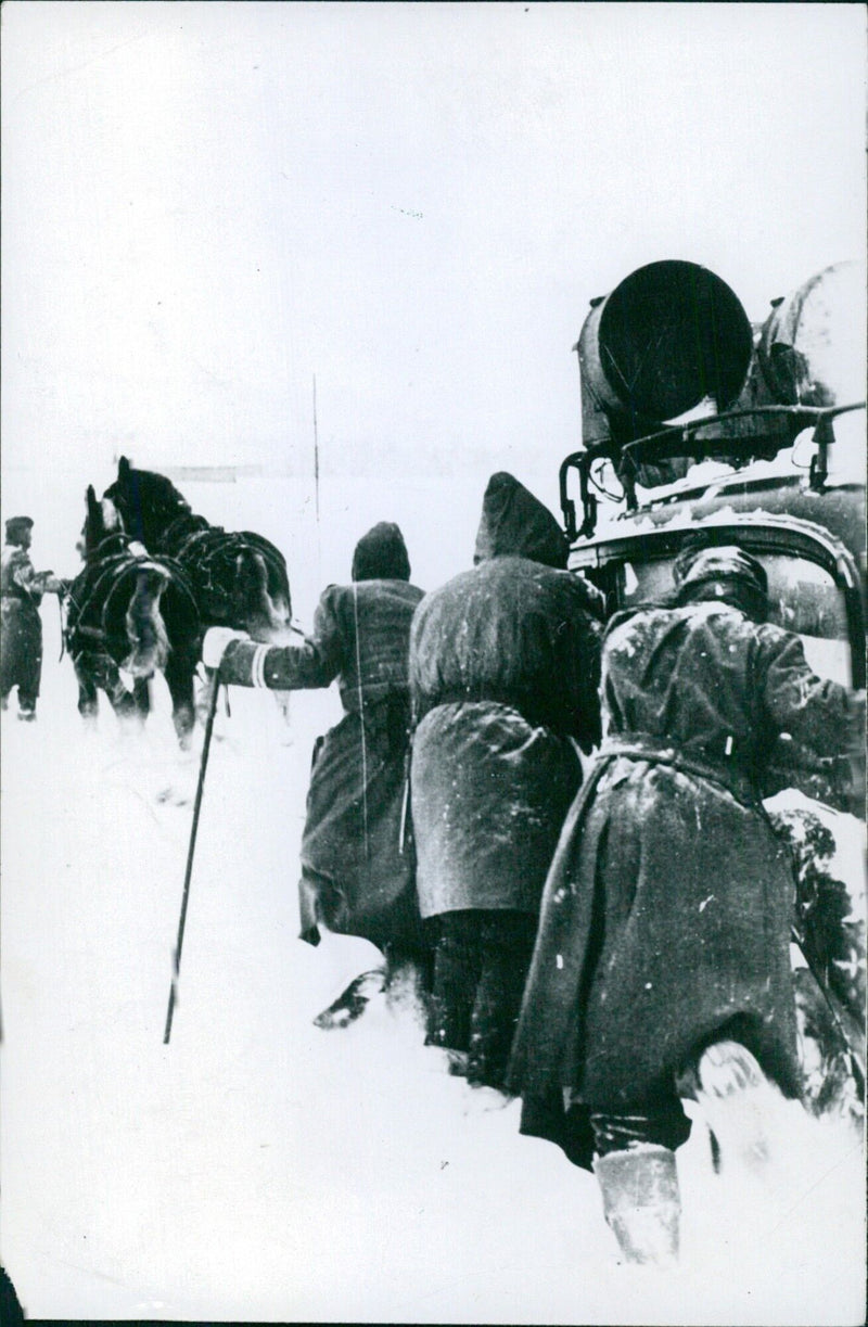
[[630, 1113], [672, 1097], [729, 1026], [796, 1095], [794, 878], [759, 782], [776, 734], [832, 752], [863, 711], [811, 673], [798, 637], [717, 604], [615, 618], [603, 699], [607, 739], [545, 882], [511, 1087]]

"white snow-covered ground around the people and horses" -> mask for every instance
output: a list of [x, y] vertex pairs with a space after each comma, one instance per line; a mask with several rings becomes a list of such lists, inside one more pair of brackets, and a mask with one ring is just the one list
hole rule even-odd
[[[441, 531], [458, 565], [437, 579], [470, 563], [478, 498], [467, 535]], [[297, 597], [305, 624], [313, 601]], [[518, 1103], [450, 1078], [409, 997], [312, 1026], [377, 957], [296, 940], [311, 744], [333, 693], [293, 697], [289, 743], [261, 691], [218, 711], [165, 1046], [199, 751], [178, 752], [159, 686], [143, 736], [105, 703], [86, 735], [50, 598], [42, 618], [38, 722], [3, 715], [1, 771], [0, 1253], [29, 1316], [863, 1322], [863, 1148], [845, 1125], [782, 1108], [763, 1182], [715, 1176], [695, 1128], [681, 1267], [628, 1269], [593, 1178], [519, 1137]]]

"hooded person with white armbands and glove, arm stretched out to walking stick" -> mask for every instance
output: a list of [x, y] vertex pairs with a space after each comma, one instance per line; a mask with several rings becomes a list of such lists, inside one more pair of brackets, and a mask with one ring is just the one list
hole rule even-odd
[[407, 641], [422, 598], [409, 581], [403, 536], [382, 522], [356, 545], [352, 584], [324, 591], [303, 644], [256, 645], [212, 628], [202, 652], [219, 679], [235, 686], [297, 690], [337, 678], [346, 713], [315, 748], [301, 840], [301, 938], [319, 943], [324, 924], [372, 941], [394, 965], [425, 950], [405, 824]]

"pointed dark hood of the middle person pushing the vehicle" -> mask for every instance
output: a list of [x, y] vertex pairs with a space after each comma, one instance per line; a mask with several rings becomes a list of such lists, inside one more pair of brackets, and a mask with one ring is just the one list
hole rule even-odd
[[567, 567], [569, 543], [551, 511], [504, 470], [488, 480], [482, 500], [474, 563], [488, 557], [530, 557]]

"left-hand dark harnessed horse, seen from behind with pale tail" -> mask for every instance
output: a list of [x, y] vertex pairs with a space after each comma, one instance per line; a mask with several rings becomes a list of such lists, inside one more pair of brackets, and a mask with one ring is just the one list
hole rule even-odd
[[[78, 679], [78, 711], [96, 718], [98, 691], [119, 718], [143, 721], [149, 679], [162, 673], [182, 746], [194, 725], [192, 678], [202, 629], [183, 568], [130, 540], [110, 503], [86, 494], [85, 565], [68, 589], [65, 641]], [[126, 681], [125, 681], [126, 678]]]

